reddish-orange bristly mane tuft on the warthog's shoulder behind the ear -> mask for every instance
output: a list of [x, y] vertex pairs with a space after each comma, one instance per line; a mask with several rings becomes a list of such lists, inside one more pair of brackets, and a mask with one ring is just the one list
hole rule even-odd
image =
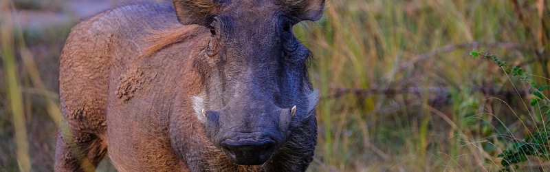
[[180, 43], [186, 39], [196, 36], [201, 29], [203, 29], [203, 27], [200, 25], [181, 25], [177, 23], [170, 25], [166, 29], [150, 30], [149, 32], [151, 34], [145, 38], [148, 45], [136, 61], [140, 61], [142, 58], [150, 56], [151, 54], [173, 45], [174, 43]]

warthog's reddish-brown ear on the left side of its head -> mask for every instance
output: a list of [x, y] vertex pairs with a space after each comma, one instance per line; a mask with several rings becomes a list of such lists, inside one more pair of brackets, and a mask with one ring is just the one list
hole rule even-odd
[[223, 0], [173, 0], [177, 21], [184, 25], [209, 25]]

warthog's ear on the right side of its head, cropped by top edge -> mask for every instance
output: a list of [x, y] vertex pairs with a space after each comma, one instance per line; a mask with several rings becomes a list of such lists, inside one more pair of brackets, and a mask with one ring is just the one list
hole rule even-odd
[[325, 0], [283, 0], [283, 3], [300, 21], [318, 21], [325, 8]]

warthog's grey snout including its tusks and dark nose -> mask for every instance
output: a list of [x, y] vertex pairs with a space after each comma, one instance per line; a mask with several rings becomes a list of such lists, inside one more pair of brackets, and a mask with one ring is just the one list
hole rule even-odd
[[[271, 105], [270, 105], [271, 104]], [[239, 165], [260, 165], [283, 146], [296, 107], [272, 103], [230, 103], [220, 111], [203, 111], [212, 143]]]

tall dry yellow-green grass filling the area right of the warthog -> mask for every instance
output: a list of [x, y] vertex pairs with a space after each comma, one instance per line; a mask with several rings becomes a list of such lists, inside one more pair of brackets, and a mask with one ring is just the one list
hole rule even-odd
[[516, 2], [328, 1], [324, 21], [297, 28], [323, 96], [312, 171], [498, 170], [496, 155], [541, 117], [525, 85], [468, 53], [548, 72], [536, 49], [550, 46], [549, 7]]

